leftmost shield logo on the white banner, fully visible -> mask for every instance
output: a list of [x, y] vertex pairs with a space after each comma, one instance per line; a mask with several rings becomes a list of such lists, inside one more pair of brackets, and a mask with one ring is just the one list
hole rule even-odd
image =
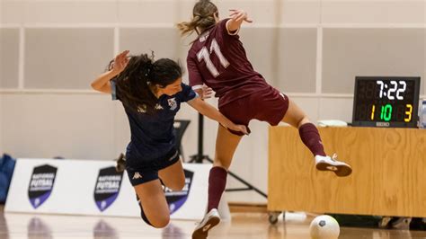
[[53, 183], [58, 169], [48, 164], [35, 167], [32, 170], [28, 197], [32, 208], [39, 208], [43, 202], [49, 199], [53, 189]]

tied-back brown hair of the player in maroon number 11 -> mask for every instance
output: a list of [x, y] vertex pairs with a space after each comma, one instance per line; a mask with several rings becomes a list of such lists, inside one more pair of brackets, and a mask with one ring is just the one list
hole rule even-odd
[[192, 9], [191, 22], [177, 24], [182, 36], [191, 35], [193, 31], [201, 34], [216, 24], [214, 16], [218, 17], [217, 6], [209, 0], [200, 0]]

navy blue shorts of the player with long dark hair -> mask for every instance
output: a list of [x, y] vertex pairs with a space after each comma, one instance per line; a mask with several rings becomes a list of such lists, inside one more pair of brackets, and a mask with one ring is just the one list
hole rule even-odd
[[173, 148], [166, 155], [138, 166], [126, 166], [131, 185], [137, 186], [147, 181], [158, 179], [158, 171], [179, 161], [179, 153]]

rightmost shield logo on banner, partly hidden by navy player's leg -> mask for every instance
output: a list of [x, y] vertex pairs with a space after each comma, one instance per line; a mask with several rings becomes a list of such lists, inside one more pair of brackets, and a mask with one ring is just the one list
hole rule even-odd
[[169, 205], [170, 215], [183, 206], [191, 190], [192, 177], [194, 173], [188, 170], [183, 170], [185, 173], [185, 186], [182, 190], [173, 191], [167, 187], [164, 188], [165, 199]]

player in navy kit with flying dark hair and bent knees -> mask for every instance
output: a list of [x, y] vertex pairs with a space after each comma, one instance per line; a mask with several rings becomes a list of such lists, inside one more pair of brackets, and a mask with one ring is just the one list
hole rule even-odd
[[117, 55], [109, 70], [99, 75], [92, 87], [111, 93], [113, 99], [123, 104], [131, 132], [126, 171], [140, 199], [141, 217], [147, 224], [160, 228], [167, 226], [170, 219], [161, 181], [171, 190], [182, 190], [185, 184], [173, 134], [174, 116], [181, 103], [188, 102], [226, 128], [247, 131], [183, 84], [181, 67], [173, 60], [154, 61], [146, 54], [129, 58], [128, 54], [129, 51], [123, 51]]

